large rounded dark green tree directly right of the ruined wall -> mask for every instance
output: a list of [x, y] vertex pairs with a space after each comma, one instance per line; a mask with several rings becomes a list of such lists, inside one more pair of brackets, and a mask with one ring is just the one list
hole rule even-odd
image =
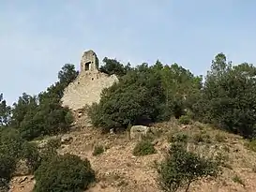
[[138, 66], [119, 83], [102, 92], [99, 104], [89, 110], [94, 126], [110, 129], [154, 122], [165, 100], [158, 74]]

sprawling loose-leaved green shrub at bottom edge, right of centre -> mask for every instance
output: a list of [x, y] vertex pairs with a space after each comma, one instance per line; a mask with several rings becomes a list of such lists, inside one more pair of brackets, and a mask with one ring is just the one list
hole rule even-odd
[[186, 151], [183, 145], [173, 144], [165, 160], [158, 166], [158, 185], [163, 191], [173, 192], [203, 177], [217, 177], [218, 162]]

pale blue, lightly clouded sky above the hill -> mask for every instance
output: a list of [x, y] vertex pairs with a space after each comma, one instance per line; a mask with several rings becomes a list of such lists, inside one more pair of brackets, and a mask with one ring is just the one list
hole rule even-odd
[[0, 93], [8, 104], [79, 69], [94, 50], [135, 66], [174, 62], [205, 74], [218, 52], [256, 64], [254, 0], [0, 0]]

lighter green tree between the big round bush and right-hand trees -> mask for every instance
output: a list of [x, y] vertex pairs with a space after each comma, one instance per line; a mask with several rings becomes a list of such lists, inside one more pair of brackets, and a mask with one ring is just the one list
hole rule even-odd
[[163, 66], [159, 61], [152, 69], [160, 75], [164, 88], [166, 110], [162, 113], [163, 117], [174, 115], [179, 118], [191, 108], [195, 97], [199, 95], [202, 77], [194, 76], [188, 69], [177, 64]]

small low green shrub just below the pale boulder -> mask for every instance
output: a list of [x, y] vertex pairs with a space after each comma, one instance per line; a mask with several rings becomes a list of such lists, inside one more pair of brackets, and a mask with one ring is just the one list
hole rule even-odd
[[149, 140], [142, 140], [138, 142], [133, 149], [133, 155], [136, 156], [151, 155], [155, 153], [156, 149]]

